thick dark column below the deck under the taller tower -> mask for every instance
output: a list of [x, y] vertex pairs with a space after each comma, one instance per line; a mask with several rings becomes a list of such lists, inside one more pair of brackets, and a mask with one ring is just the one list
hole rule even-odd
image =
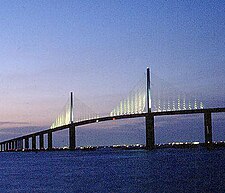
[[154, 116], [148, 114], [145, 117], [145, 123], [146, 123], [146, 149], [154, 149], [155, 147]]

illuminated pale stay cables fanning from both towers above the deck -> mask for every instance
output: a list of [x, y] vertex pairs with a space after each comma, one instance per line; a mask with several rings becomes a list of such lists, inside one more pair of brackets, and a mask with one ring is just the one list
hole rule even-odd
[[[147, 113], [148, 103], [149, 111], [151, 112], [197, 110], [204, 108], [201, 100], [177, 90], [155, 75], [151, 77], [154, 81], [150, 80], [149, 89], [147, 88], [146, 77], [143, 77], [126, 97], [121, 99], [111, 111], [105, 114], [95, 112], [91, 107], [74, 97], [73, 93], [71, 93], [70, 98], [68, 98], [63, 110], [59, 113], [51, 128], [54, 129], [67, 125], [72, 121], [77, 123], [108, 116], [115, 117]], [[147, 96], [147, 90], [149, 90], [149, 96]]]

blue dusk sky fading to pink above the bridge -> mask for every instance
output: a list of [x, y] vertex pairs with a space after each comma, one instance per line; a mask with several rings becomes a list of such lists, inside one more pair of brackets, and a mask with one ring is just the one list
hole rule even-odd
[[97, 107], [124, 96], [147, 67], [225, 106], [223, 1], [3, 0], [0, 25], [2, 139], [49, 127], [71, 91]]

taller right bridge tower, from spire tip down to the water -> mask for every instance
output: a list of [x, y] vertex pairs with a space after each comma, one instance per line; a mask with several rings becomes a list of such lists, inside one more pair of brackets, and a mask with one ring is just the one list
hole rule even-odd
[[151, 77], [150, 69], [147, 68], [147, 114], [146, 123], [146, 149], [155, 147], [154, 115], [151, 114]]

